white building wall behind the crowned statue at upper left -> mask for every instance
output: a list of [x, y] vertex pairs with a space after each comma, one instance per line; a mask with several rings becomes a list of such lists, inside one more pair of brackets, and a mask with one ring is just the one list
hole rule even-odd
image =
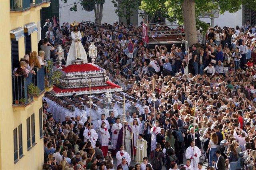
[[[86, 10], [82, 10], [82, 6], [80, 3], [77, 5], [77, 11], [70, 11], [70, 7], [72, 7], [73, 2], [79, 2], [79, 0], [68, 0], [65, 4], [62, 0], [59, 0], [59, 12], [60, 12], [60, 25], [63, 22], [72, 23], [74, 21], [81, 22], [83, 21], [95, 21], [94, 10], [91, 12], [87, 12]], [[114, 11], [114, 5], [110, 0], [106, 0], [103, 6], [103, 17], [102, 23], [107, 22], [109, 24], [113, 24], [118, 21], [118, 16]]]

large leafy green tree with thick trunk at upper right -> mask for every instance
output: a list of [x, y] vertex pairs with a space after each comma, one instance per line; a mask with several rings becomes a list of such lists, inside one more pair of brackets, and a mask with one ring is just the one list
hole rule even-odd
[[226, 11], [234, 13], [241, 9], [242, 5], [248, 5], [256, 10], [255, 3], [256, 0], [142, 0], [140, 9], [150, 14], [154, 14], [156, 10], [165, 10], [169, 21], [184, 24], [186, 40], [189, 46], [192, 46], [198, 42], [196, 26], [204, 29], [207, 27], [206, 23], [198, 19], [200, 14], [216, 9], [220, 14]]

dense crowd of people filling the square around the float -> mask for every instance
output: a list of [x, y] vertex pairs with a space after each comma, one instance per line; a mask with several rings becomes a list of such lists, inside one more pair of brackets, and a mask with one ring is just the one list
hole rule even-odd
[[[204, 170], [205, 162], [207, 170], [255, 169], [254, 25], [209, 27], [207, 41], [198, 36], [198, 44], [188, 51], [185, 34], [181, 47], [153, 49], [138, 39], [141, 26], [104, 26], [80, 24], [81, 43], [88, 53], [95, 42], [96, 64], [123, 92], [113, 93], [107, 106], [104, 94], [93, 95], [91, 109], [86, 94], [60, 98], [46, 93], [44, 169]], [[72, 42], [68, 23], [56, 27], [56, 37], [43, 43], [54, 41], [47, 49], [49, 59], [56, 59], [57, 45], [67, 57]], [[166, 29], [158, 27], [154, 30]], [[134, 44], [133, 59], [127, 56], [129, 42]]]

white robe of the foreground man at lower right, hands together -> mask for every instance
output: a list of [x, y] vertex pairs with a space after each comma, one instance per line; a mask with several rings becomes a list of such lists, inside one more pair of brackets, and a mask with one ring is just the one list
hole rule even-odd
[[[194, 155], [195, 153], [195, 155]], [[195, 146], [192, 148], [191, 146], [186, 150], [186, 159], [191, 159], [190, 165], [194, 167], [194, 170], [197, 170], [197, 164], [200, 162], [201, 150]]]

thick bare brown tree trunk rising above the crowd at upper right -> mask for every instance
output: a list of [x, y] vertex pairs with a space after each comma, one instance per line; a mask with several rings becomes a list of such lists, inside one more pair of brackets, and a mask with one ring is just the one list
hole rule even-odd
[[182, 14], [186, 41], [188, 41], [189, 47], [191, 47], [194, 43], [198, 43], [198, 39], [196, 37], [195, 4], [195, 0], [183, 0], [182, 2]]

